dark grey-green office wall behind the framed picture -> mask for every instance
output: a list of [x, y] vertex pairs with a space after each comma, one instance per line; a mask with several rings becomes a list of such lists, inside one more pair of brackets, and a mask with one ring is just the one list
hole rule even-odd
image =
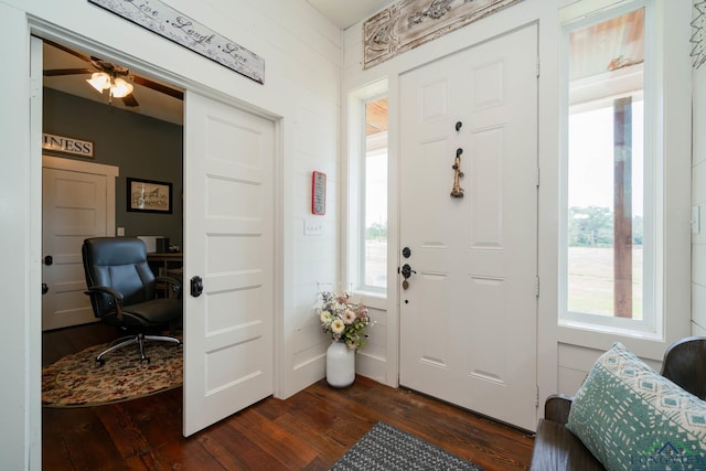
[[[106, 98], [107, 99], [107, 98]], [[45, 151], [120, 169], [116, 227], [126, 236], [163, 236], [182, 246], [183, 127], [44, 88], [43, 132], [94, 143], [94, 159]], [[126, 178], [172, 183], [172, 214], [127, 211]]]

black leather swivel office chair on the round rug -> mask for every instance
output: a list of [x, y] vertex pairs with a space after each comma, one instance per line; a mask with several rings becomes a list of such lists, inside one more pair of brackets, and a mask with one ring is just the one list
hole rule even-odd
[[[108, 325], [137, 333], [120, 338], [101, 352], [96, 362], [105, 364], [104, 355], [137, 343], [140, 363], [145, 341], [165, 341], [181, 344], [175, 336], [147, 334], [159, 328], [172, 331], [182, 319], [181, 285], [174, 278], [154, 277], [147, 263], [147, 248], [139, 238], [95, 237], [84, 240], [82, 247], [86, 285], [96, 318]], [[172, 287], [172, 296], [157, 298], [157, 282]]]

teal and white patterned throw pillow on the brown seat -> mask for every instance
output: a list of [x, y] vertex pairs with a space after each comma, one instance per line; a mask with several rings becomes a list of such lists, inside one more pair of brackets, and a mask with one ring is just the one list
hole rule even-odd
[[566, 427], [609, 470], [706, 470], [706, 402], [619, 342], [588, 373]]

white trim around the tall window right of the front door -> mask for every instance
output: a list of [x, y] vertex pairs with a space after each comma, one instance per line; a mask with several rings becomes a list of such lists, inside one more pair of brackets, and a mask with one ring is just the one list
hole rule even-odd
[[[589, 4], [590, 3], [590, 4]], [[560, 10], [559, 20], [561, 26], [573, 21], [581, 21], [593, 14], [602, 13], [607, 8], [616, 7], [611, 13], [617, 14], [618, 9], [632, 10], [641, 2], [597, 0], [595, 2], [577, 2]], [[655, 207], [653, 221], [645, 220], [648, 225], [653, 225], [655, 240], [655, 257], [652, 274], [655, 308], [654, 328], [652, 332], [639, 332], [623, 330], [620, 325], [607, 327], [599, 324], [586, 324], [575, 321], [558, 321], [557, 336], [560, 343], [605, 349], [612, 341], [632, 339], [633, 349], [639, 354], [660, 360], [664, 347], [674, 340], [688, 335], [691, 318], [691, 249], [689, 249], [689, 204], [691, 204], [691, 116], [688, 113], [680, 113], [678, 109], [689, 109], [691, 106], [691, 66], [688, 57], [689, 32], [683, 31], [682, 25], [691, 20], [691, 6], [675, 6], [664, 0], [645, 0], [645, 22], [653, 21], [656, 24], [654, 38], [645, 38], [645, 50], [653, 51], [653, 67], [645, 71], [645, 89], [653, 89], [656, 100], [653, 100], [653, 109], [645, 108], [645, 116], [655, 117], [652, 124], [645, 122], [645, 136], [651, 136], [653, 141], [645, 142], [656, 150], [654, 156], [654, 174], [660, 176], [660, 184], [652, 181], [653, 186], [645, 182], [645, 194], [652, 195], [652, 204]], [[591, 11], [587, 10], [590, 7]], [[680, 25], [680, 28], [676, 28]], [[678, 31], [676, 31], [678, 30]], [[565, 34], [564, 28], [560, 30]], [[564, 44], [564, 42], [561, 42]], [[684, 50], [684, 51], [682, 51]], [[684, 52], [684, 54], [680, 54]], [[645, 52], [648, 56], [649, 52]], [[563, 65], [563, 76], [566, 77], [566, 65]], [[649, 82], [654, 81], [654, 82]], [[566, 90], [561, 92], [561, 103], [567, 103]], [[668, 126], [666, 126], [668, 124]], [[649, 128], [648, 126], [652, 126]], [[566, 136], [566, 121], [561, 122], [561, 136]], [[561, 139], [561, 149], [565, 150], [565, 139]], [[565, 156], [566, 152], [564, 151]], [[665, 163], [668, 159], [668, 164]], [[566, 174], [565, 162], [561, 161], [560, 175]], [[667, 171], [668, 170], [668, 171]], [[656, 180], [656, 179], [655, 179]], [[566, 194], [566, 179], [560, 180], [560, 194]], [[564, 196], [563, 196], [564, 200]], [[566, 201], [559, 210], [559, 282], [564, 281], [566, 274]], [[665, 256], [664, 254], [668, 254]], [[644, 280], [645, 283], [650, 282]], [[559, 287], [557, 319], [566, 306], [565, 286]]]

